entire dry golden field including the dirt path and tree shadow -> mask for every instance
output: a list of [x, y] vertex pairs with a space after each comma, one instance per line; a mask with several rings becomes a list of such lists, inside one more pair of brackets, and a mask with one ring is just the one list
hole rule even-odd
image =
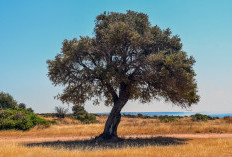
[[[161, 123], [158, 119], [123, 117], [118, 134], [127, 138], [130, 136], [139, 138], [139, 140], [126, 140], [128, 143], [134, 143], [133, 146], [124, 144], [120, 147], [116, 146], [117, 148], [89, 145], [85, 148], [73, 147], [83, 143], [84, 139], [100, 134], [106, 118], [106, 116], [97, 117], [98, 123], [89, 125], [65, 118], [57, 120], [57, 124], [47, 128], [36, 126], [24, 132], [0, 131], [0, 156], [232, 156], [232, 136], [227, 136], [232, 135], [232, 123], [225, 119], [193, 122], [189, 117], [185, 117], [175, 122]], [[182, 136], [183, 134], [186, 136]], [[144, 139], [146, 135], [148, 138]], [[166, 135], [173, 135], [173, 137], [166, 137]], [[220, 137], [220, 135], [226, 136]], [[57, 140], [61, 141], [57, 142]], [[34, 145], [28, 146], [31, 143]]]

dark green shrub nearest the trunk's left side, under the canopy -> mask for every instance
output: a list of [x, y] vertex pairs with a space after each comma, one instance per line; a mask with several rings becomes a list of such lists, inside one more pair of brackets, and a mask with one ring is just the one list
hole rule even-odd
[[92, 113], [85, 111], [84, 107], [81, 105], [74, 105], [72, 107], [74, 117], [80, 120], [84, 124], [96, 123], [96, 116]]

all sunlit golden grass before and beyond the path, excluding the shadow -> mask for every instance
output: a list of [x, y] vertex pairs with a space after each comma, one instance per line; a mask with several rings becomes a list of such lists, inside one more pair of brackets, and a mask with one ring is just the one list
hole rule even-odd
[[[49, 118], [52, 120], [53, 118]], [[84, 125], [79, 121], [65, 118], [57, 120], [56, 125], [49, 128], [36, 126], [29, 131], [0, 131], [0, 138], [4, 137], [71, 137], [96, 136], [104, 128], [107, 117], [97, 117], [99, 123]], [[177, 122], [161, 123], [157, 119], [122, 118], [118, 128], [119, 135], [157, 135], [183, 133], [232, 133], [231, 119], [217, 119], [207, 122], [193, 122], [190, 118], [183, 118]], [[20, 141], [20, 140], [19, 140]], [[73, 156], [167, 156], [167, 157], [218, 157], [232, 156], [232, 138], [193, 139], [183, 145], [125, 147], [120, 149], [69, 150], [51, 147], [26, 147], [21, 142], [0, 142], [0, 157], [73, 157]], [[38, 142], [38, 141], [37, 141]]]

